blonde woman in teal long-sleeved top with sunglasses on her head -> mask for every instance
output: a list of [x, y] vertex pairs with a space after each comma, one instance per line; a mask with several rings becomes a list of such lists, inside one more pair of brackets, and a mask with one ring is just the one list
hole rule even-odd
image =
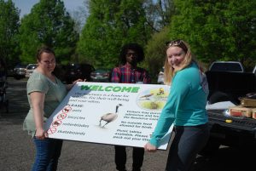
[[166, 170], [187, 171], [209, 137], [207, 78], [192, 59], [188, 43], [176, 40], [166, 46], [165, 83], [171, 85], [171, 90], [154, 134], [144, 148], [146, 151], [156, 151], [161, 138], [173, 123], [175, 137]]

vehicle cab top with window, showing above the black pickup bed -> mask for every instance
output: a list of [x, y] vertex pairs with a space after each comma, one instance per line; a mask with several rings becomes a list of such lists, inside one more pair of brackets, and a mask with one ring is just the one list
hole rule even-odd
[[237, 61], [215, 61], [209, 67], [209, 71], [236, 71], [244, 72], [244, 67], [241, 62]]

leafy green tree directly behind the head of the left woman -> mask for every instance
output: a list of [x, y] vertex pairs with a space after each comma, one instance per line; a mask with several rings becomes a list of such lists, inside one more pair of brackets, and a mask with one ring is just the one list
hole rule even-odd
[[35, 62], [38, 47], [47, 45], [55, 49], [56, 60], [67, 63], [75, 52], [79, 33], [61, 0], [40, 0], [21, 20], [21, 60]]

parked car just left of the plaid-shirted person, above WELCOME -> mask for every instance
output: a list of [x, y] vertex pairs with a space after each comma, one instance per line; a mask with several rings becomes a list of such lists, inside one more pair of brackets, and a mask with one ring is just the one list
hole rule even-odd
[[106, 68], [98, 68], [90, 73], [91, 82], [110, 82], [111, 70]]

